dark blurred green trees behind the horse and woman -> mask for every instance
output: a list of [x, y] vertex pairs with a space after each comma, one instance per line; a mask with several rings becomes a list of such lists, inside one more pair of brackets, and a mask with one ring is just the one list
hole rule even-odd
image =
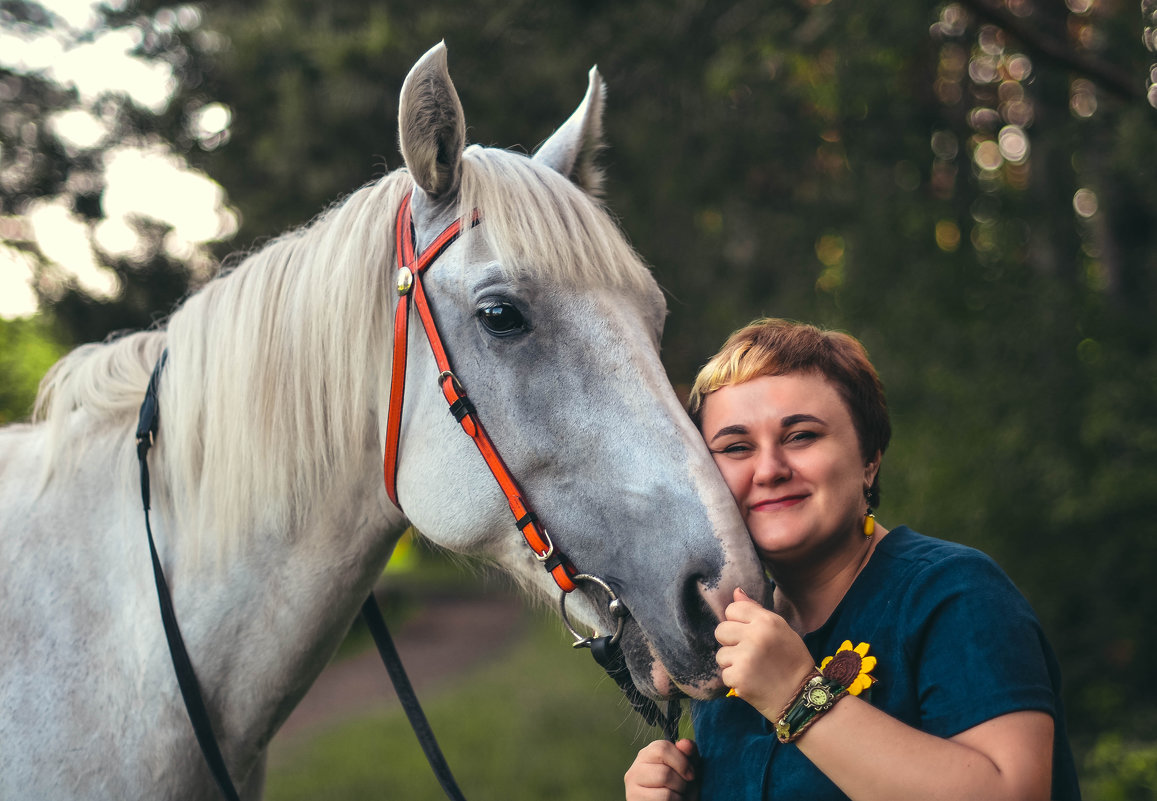
[[[992, 553], [1061, 657], [1090, 787], [1157, 793], [1157, 700], [1138, 691], [1157, 663], [1148, 2], [112, 8], [105, 23], [138, 31], [141, 57], [170, 64], [177, 89], [160, 116], [106, 97], [102, 118], [116, 141], [165, 141], [226, 188], [242, 225], [221, 258], [400, 166], [397, 93], [432, 44], [448, 43], [469, 138], [528, 152], [597, 63], [606, 200], [668, 292], [672, 381], [764, 314], [860, 337], [897, 432], [883, 522]], [[53, 24], [34, 2], [0, 9], [13, 30]], [[6, 68], [0, 81], [0, 214], [60, 196], [100, 220], [98, 182], [74, 178], [98, 170], [101, 148], [68, 152], [47, 124], [75, 93]], [[231, 117], [207, 137], [196, 118], [211, 103]], [[1027, 150], [1000, 152], [1003, 137]], [[1081, 197], [1096, 211], [1076, 213]], [[61, 338], [171, 308], [190, 273], [163, 233], [142, 226], [140, 259], [108, 259], [117, 299], [43, 289]], [[9, 358], [27, 340], [3, 336], [0, 369], [42, 368], [43, 348], [39, 362]]]

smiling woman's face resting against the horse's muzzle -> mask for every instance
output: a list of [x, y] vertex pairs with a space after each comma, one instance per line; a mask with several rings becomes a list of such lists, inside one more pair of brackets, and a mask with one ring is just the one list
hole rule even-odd
[[852, 414], [819, 373], [760, 376], [703, 400], [702, 433], [767, 561], [821, 558], [861, 530], [865, 463]]

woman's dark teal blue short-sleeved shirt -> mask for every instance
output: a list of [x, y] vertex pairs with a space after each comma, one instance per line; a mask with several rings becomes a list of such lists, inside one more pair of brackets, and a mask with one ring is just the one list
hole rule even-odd
[[[868, 642], [877, 682], [861, 695], [938, 737], [1024, 710], [1053, 715], [1053, 799], [1079, 799], [1060, 669], [1029, 602], [995, 561], [900, 527], [876, 546], [840, 605], [804, 635], [816, 664]], [[702, 801], [846, 799], [795, 744], [738, 698], [692, 705]], [[870, 749], [870, 743], [864, 743]]]

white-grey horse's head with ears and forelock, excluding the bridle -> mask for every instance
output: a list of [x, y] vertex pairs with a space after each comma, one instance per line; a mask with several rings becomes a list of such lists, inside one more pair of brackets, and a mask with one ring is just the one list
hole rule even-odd
[[[414, 240], [421, 251], [462, 221], [426, 296], [457, 380], [555, 548], [599, 579], [578, 582], [568, 616], [614, 630], [610, 589], [629, 610], [622, 648], [636, 686], [706, 698], [722, 686], [714, 627], [735, 587], [762, 597], [762, 572], [659, 361], [662, 292], [595, 197], [603, 91], [591, 69], [584, 100], [533, 157], [465, 148], [445, 49], [430, 50], [399, 106]], [[408, 326], [405, 515], [434, 543], [557, 593], [447, 412], [425, 332]]]

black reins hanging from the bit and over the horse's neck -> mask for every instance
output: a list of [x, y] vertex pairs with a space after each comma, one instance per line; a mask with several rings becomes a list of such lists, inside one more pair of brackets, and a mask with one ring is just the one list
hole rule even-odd
[[[164, 637], [169, 644], [169, 655], [172, 657], [172, 668], [177, 674], [177, 685], [180, 688], [180, 697], [185, 701], [189, 721], [193, 726], [197, 743], [201, 748], [205, 763], [213, 774], [213, 780], [216, 782], [218, 789], [221, 791], [221, 796], [226, 801], [239, 801], [239, 795], [233, 784], [233, 779], [229, 777], [229, 769], [224, 764], [224, 757], [221, 755], [221, 748], [218, 745], [218, 738], [213, 732], [213, 723], [205, 706], [205, 697], [201, 693], [200, 682], [197, 681], [192, 660], [189, 657], [189, 651], [185, 648], [185, 640], [180, 635], [180, 627], [177, 625], [177, 615], [172, 608], [172, 595], [169, 591], [169, 582], [164, 578], [164, 569], [161, 567], [161, 558], [157, 556], [156, 543], [153, 539], [153, 527], [149, 522], [148, 451], [153, 447], [153, 442], [160, 429], [157, 392], [161, 384], [161, 372], [164, 369], [168, 358], [169, 351], [165, 348], [161, 352], [161, 358], [157, 360], [156, 367], [153, 368], [153, 375], [149, 379], [148, 390], [145, 392], [145, 402], [141, 404], [140, 418], [137, 424], [137, 458], [140, 462], [145, 530], [148, 532], [148, 550], [153, 560], [153, 578], [156, 581], [156, 595], [161, 605]], [[401, 664], [401, 657], [398, 655], [398, 649], [393, 645], [393, 639], [390, 637], [385, 619], [382, 617], [382, 610], [377, 605], [373, 593], [370, 593], [364, 604], [362, 604], [362, 617], [370, 634], [374, 637], [377, 652], [382, 656], [382, 663], [390, 675], [390, 681], [393, 683], [393, 689], [397, 692], [398, 700], [401, 703], [401, 708], [410, 720], [410, 725], [418, 737], [419, 744], [422, 747], [422, 752], [426, 755], [426, 760], [429, 762], [434, 776], [451, 801], [465, 801], [465, 796], [462, 794], [457, 781], [454, 779], [454, 774], [450, 772], [450, 765], [447, 763], [445, 757], [442, 755], [442, 749], [437, 744], [429, 720], [427, 720], [426, 714], [422, 712], [418, 695], [414, 692], [413, 684], [410, 682], [406, 669]], [[653, 700], [639, 692], [634, 682], [631, 681], [631, 673], [627, 670], [626, 661], [622, 659], [622, 652], [619, 649], [618, 642], [612, 642], [610, 637], [600, 637], [592, 640], [591, 653], [595, 655], [595, 660], [603, 666], [603, 669], [621, 688], [631, 706], [642, 715], [643, 720], [650, 726], [662, 726], [664, 736], [675, 742], [678, 736], [679, 718], [681, 715], [679, 701], [670, 701], [664, 714]]]

